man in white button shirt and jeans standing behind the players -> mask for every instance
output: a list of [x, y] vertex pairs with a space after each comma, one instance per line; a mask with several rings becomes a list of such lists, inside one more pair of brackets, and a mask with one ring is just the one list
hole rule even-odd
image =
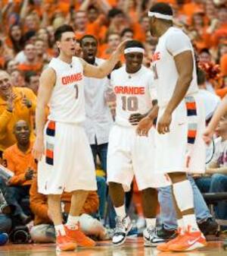
[[[82, 58], [90, 65], [99, 66], [105, 62], [103, 58], [95, 57], [98, 50], [98, 41], [95, 36], [86, 35], [80, 39]], [[110, 128], [113, 125], [113, 118], [109, 106], [104, 98], [110, 81], [107, 77], [102, 79], [84, 77], [85, 84], [85, 103], [86, 103], [86, 122], [85, 129], [92, 148], [92, 155], [97, 167], [97, 156], [101, 162], [101, 169], [105, 172], [105, 177], [97, 176], [98, 190], [106, 191], [106, 172], [107, 172], [107, 147], [109, 141]], [[106, 204], [106, 192], [99, 193], [99, 215], [104, 222], [104, 212]], [[113, 211], [113, 210], [112, 210]], [[114, 211], [113, 211], [114, 214]], [[112, 214], [112, 215], [113, 215]], [[115, 216], [115, 215], [114, 215]], [[113, 219], [114, 220], [114, 219]]]

